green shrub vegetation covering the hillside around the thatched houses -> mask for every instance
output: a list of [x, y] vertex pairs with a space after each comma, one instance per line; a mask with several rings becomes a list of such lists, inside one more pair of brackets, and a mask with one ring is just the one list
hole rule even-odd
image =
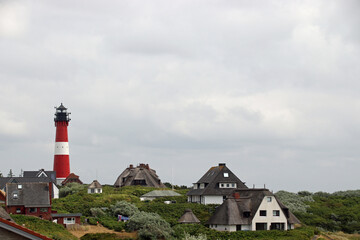
[[[157, 237], [166, 237], [171, 234], [175, 239], [185, 238], [186, 233], [190, 234], [188, 237], [194, 239], [205, 239], [205, 237], [207, 239], [309, 239], [314, 234], [314, 231], [316, 231], [315, 227], [327, 231], [344, 231], [346, 233], [360, 231], [360, 191], [343, 191], [333, 194], [324, 192], [310, 193], [308, 191], [298, 193], [279, 191], [276, 193], [277, 198], [289, 207], [303, 224], [309, 227], [305, 226], [300, 229], [284, 232], [228, 233], [218, 232], [204, 226], [209, 217], [214, 213], [217, 205], [188, 203], [186, 197], [188, 190], [184, 188], [178, 187], [178, 189], [175, 189], [182, 196], [142, 202], [139, 197], [155, 190], [154, 188], [141, 186], [114, 188], [112, 186], [104, 186], [103, 194], [87, 194], [86, 187], [81, 188], [76, 184], [68, 187], [68, 189], [65, 189], [66, 191], [63, 190], [67, 193], [65, 194], [66, 197], [54, 200], [54, 210], [59, 212], [80, 212], [89, 218], [90, 223], [100, 222], [105, 227], [115, 231], [131, 231], [136, 229], [140, 232], [140, 228], [130, 227], [130, 222], [118, 222], [116, 218], [118, 214], [134, 216], [137, 213], [141, 213], [138, 214], [138, 217], [143, 215], [145, 216], [144, 219], [147, 219], [149, 222], [151, 222], [149, 220], [151, 219], [150, 216], [156, 216], [157, 220], [154, 221], [162, 222], [164, 226], [169, 224], [169, 227], [171, 226], [172, 228], [169, 229], [166, 226], [160, 229], [156, 227], [156, 224], [149, 224], [147, 225], [149, 229], [143, 230], [144, 233], [147, 231], [160, 232], [161, 234], [157, 235]], [[164, 201], [170, 201], [172, 204], [165, 204]], [[192, 209], [201, 221], [201, 224], [178, 224], [178, 219], [187, 208]], [[144, 219], [141, 219], [141, 221]], [[137, 224], [138, 226], [146, 225], [143, 222]], [[152, 238], [145, 234], [140, 234], [139, 237], [143, 239]]]

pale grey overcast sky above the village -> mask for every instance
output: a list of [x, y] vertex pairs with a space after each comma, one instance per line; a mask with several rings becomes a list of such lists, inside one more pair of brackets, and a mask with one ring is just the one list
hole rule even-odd
[[[360, 189], [360, 2], [0, 0], [0, 171]], [[172, 174], [173, 173], [173, 174]], [[173, 177], [172, 177], [173, 175]]]

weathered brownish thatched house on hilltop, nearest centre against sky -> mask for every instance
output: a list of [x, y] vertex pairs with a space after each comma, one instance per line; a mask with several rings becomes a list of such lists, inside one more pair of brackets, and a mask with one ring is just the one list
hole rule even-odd
[[156, 171], [149, 167], [149, 164], [141, 163], [139, 166], [134, 167], [132, 164], [126, 168], [120, 176], [116, 179], [114, 187], [124, 186], [145, 186], [155, 188], [166, 188], [161, 182]]

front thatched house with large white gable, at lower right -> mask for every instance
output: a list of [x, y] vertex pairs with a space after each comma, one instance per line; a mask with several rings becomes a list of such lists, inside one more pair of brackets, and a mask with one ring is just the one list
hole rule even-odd
[[293, 229], [300, 221], [268, 189], [237, 189], [210, 217], [218, 231]]

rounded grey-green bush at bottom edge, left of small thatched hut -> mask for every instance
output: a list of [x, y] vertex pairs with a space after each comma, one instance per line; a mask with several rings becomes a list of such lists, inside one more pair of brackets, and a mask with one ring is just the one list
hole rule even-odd
[[170, 224], [158, 214], [147, 212], [135, 213], [127, 222], [127, 229], [137, 230], [140, 239], [168, 239], [173, 233]]

